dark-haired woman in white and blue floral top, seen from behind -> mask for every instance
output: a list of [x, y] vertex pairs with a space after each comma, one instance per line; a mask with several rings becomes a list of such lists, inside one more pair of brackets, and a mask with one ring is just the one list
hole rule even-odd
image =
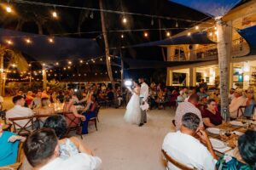
[[61, 158], [67, 159], [69, 156], [74, 156], [78, 153], [86, 153], [92, 156], [92, 151], [85, 148], [81, 140], [76, 137], [65, 137], [67, 133], [67, 122], [64, 116], [49, 116], [44, 122], [44, 127], [49, 127], [55, 130], [55, 134], [59, 139]]

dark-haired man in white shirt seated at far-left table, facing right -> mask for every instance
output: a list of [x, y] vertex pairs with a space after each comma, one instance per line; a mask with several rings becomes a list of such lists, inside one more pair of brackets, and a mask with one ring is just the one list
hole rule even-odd
[[[9, 120], [9, 118], [15, 118], [15, 117], [23, 117], [23, 116], [32, 116], [33, 112], [31, 109], [24, 107], [25, 99], [21, 95], [17, 95], [13, 98], [13, 103], [15, 106], [10, 109], [9, 111], [6, 111], [6, 118]], [[21, 127], [24, 127], [28, 120], [21, 120], [16, 121]], [[31, 126], [31, 122], [27, 124], [26, 127]]]

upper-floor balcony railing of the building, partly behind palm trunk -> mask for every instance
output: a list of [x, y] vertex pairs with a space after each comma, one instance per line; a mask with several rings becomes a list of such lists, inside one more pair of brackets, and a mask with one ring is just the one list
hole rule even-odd
[[[241, 57], [249, 53], [249, 46], [243, 38], [232, 41], [231, 56]], [[179, 54], [171, 57], [172, 61], [193, 61], [193, 60], [211, 60], [218, 59], [217, 44], [208, 45], [205, 48], [199, 48], [193, 51], [184, 53], [179, 51]]]

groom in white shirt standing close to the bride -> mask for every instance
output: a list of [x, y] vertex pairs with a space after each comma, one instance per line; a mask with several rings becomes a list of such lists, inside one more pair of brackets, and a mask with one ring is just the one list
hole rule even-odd
[[[148, 101], [148, 84], [144, 82], [144, 78], [139, 78], [138, 82], [141, 84], [141, 91], [140, 91], [140, 104], [144, 105], [145, 102]], [[142, 127], [144, 123], [147, 122], [147, 113], [146, 110], [143, 111], [141, 109], [141, 123], [139, 124], [139, 127]]]

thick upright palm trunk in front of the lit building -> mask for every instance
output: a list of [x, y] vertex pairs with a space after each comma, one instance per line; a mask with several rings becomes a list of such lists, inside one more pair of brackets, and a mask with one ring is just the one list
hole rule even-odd
[[232, 27], [226, 26], [222, 20], [217, 20], [217, 48], [220, 82], [221, 114], [226, 122], [230, 121], [229, 110], [229, 73], [232, 43]]

